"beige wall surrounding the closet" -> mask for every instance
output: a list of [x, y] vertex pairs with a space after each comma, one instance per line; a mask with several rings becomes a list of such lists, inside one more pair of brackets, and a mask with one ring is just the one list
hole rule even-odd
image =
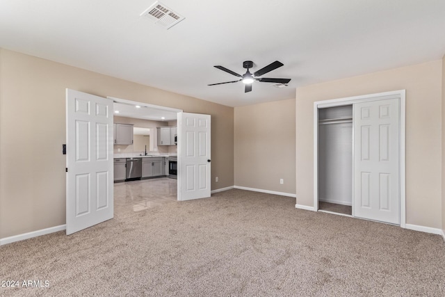
[[442, 61], [296, 90], [297, 203], [313, 206], [314, 102], [406, 89], [406, 223], [442, 226]]

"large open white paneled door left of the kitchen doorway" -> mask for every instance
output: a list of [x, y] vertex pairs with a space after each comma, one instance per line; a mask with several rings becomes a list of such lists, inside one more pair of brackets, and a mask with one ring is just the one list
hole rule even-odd
[[113, 218], [113, 101], [66, 91], [67, 234]]

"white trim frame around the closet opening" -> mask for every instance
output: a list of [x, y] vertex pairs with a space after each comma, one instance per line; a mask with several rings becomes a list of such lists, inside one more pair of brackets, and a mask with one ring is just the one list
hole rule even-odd
[[[406, 113], [406, 107], [405, 107], [405, 90], [395, 90], [390, 92], [384, 92], [384, 93], [375, 93], [375, 94], [368, 94], [368, 95], [360, 95], [360, 96], [353, 96], [353, 97], [344, 97], [344, 98], [338, 98], [338, 99], [329, 99], [329, 100], [323, 100], [323, 101], [317, 101], [314, 102], [314, 211], [318, 211], [318, 109], [323, 109], [327, 107], [334, 107], [334, 106], [343, 106], [343, 105], [350, 105], [354, 103], [359, 102], [371, 102], [371, 101], [377, 101], [377, 100], [383, 100], [383, 99], [390, 99], [390, 98], [399, 98], [400, 99], [400, 127], [399, 127], [399, 134], [400, 134], [400, 146], [399, 146], [399, 177], [400, 177], [400, 219], [401, 219], [401, 227], [406, 227], [406, 193], [405, 193], [405, 184], [406, 184], [406, 176], [405, 176], [405, 113]], [[354, 133], [354, 131], [353, 131]], [[353, 145], [354, 145], [354, 138], [353, 138]], [[354, 154], [354, 147], [353, 147], [353, 154]], [[352, 156], [352, 158], [354, 155]], [[354, 175], [353, 175], [354, 179]], [[353, 180], [353, 187], [354, 187], [354, 180]], [[354, 190], [354, 188], [353, 188]], [[353, 195], [353, 206], [354, 206], [354, 191], [352, 193]], [[352, 207], [353, 210], [353, 217], [354, 216], [354, 207]]]

